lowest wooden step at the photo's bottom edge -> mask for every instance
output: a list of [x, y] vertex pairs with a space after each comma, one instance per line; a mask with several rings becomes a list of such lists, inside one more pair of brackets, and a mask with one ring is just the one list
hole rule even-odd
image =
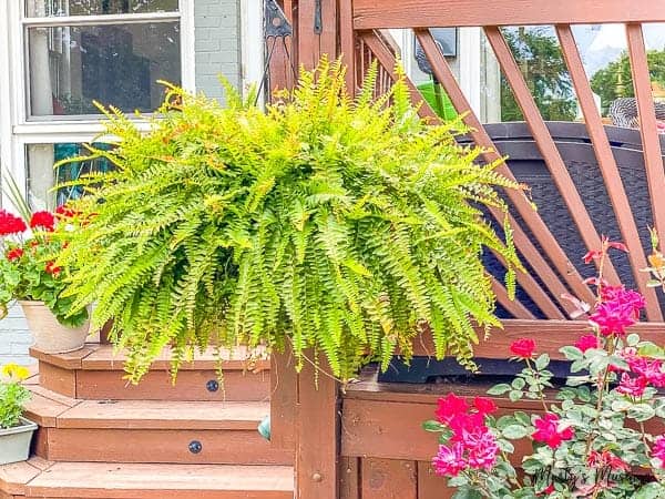
[[[0, 467], [0, 493], [25, 499], [291, 499], [293, 468], [287, 466], [145, 465], [32, 460], [23, 475]], [[11, 466], [11, 465], [10, 465]], [[30, 472], [25, 472], [30, 471]], [[11, 490], [11, 491], [9, 491]]]

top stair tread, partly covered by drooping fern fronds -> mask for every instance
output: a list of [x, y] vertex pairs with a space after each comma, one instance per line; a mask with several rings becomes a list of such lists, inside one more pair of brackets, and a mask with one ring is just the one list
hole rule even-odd
[[[270, 361], [264, 348], [249, 349], [238, 347], [233, 350], [222, 352], [223, 370], [252, 370], [260, 371], [269, 369]], [[124, 353], [115, 353], [112, 345], [89, 344], [84, 348], [70, 354], [45, 354], [37, 348], [30, 349], [30, 355], [40, 361], [61, 367], [63, 369], [84, 370], [123, 370], [126, 356]], [[184, 361], [182, 370], [200, 370], [219, 367], [215, 348], [196, 353], [193, 361]], [[171, 350], [165, 348], [160, 357], [153, 363], [153, 370], [168, 370], [171, 368]]]

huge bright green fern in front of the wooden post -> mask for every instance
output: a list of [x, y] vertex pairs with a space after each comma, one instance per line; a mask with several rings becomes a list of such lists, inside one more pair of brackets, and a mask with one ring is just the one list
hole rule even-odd
[[[78, 268], [69, 294], [113, 319], [137, 381], [163, 347], [174, 368], [196, 347], [265, 344], [324, 353], [335, 376], [383, 367], [431, 330], [437, 357], [470, 365], [474, 323], [498, 326], [481, 253], [519, 266], [483, 221], [519, 189], [462, 147], [461, 122], [418, 118], [403, 81], [356, 100], [339, 62], [303, 72], [266, 111], [227, 88], [227, 103], [168, 86], [151, 131], [104, 110], [115, 166], [80, 181], [80, 231], [61, 234]], [[75, 159], [72, 161], [76, 161]], [[509, 285], [509, 287], [512, 287]]]

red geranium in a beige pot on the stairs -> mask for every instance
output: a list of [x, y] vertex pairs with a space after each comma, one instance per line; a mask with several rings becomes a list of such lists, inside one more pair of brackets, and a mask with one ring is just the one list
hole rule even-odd
[[[11, 179], [9, 184], [16, 194]], [[76, 350], [89, 333], [88, 308], [72, 308], [74, 301], [62, 294], [65, 271], [53, 262], [61, 243], [52, 233], [59, 224], [71, 226], [70, 213], [63, 207], [31, 213], [19, 196], [11, 197], [21, 216], [0, 210], [0, 318], [17, 301], [37, 348], [48, 354]]]

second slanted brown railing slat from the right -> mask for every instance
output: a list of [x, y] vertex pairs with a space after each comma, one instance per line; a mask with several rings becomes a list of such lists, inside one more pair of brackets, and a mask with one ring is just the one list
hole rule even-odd
[[[656, 292], [654, 288], [646, 285], [648, 274], [641, 272], [642, 268], [647, 267], [647, 262], [644, 256], [644, 248], [640, 242], [640, 232], [637, 231], [637, 225], [633, 217], [631, 203], [628, 202], [628, 196], [626, 195], [621, 179], [621, 172], [618, 171], [607, 134], [605, 133], [605, 128], [603, 126], [601, 113], [598, 112], [593, 98], [589, 78], [584, 71], [584, 65], [582, 63], [582, 58], [580, 57], [580, 51], [577, 50], [577, 44], [575, 43], [573, 31], [567, 24], [559, 26], [556, 27], [556, 34], [559, 35], [561, 51], [569, 68], [571, 79], [573, 80], [573, 85], [586, 123], [586, 130], [589, 131], [598, 166], [605, 181], [607, 195], [614, 207], [618, 228], [621, 230], [623, 241], [630, 251], [628, 258], [633, 268], [635, 282], [637, 283], [640, 292], [646, 297], [646, 315], [651, 320], [663, 320], [663, 313], [658, 306]], [[654, 123], [654, 132], [655, 130], [656, 126]], [[665, 183], [662, 185], [665, 185]]]

